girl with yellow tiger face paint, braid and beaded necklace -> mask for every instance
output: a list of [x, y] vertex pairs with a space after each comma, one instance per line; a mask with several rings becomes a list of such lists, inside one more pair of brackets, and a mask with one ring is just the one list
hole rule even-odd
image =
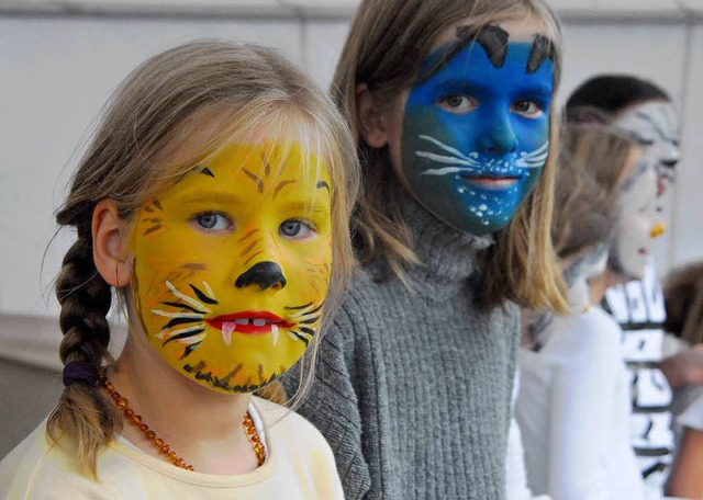
[[138, 67], [57, 214], [77, 230], [66, 389], [0, 463], [0, 497], [343, 498], [322, 435], [252, 393], [309, 352], [305, 390], [353, 269], [357, 168], [333, 104], [270, 50], [196, 42]]

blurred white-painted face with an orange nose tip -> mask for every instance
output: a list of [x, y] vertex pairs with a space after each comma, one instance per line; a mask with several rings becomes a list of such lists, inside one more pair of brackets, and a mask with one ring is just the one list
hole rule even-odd
[[609, 255], [610, 269], [626, 280], [644, 277], [654, 238], [663, 230], [657, 205], [657, 174], [640, 160], [620, 190], [615, 240]]

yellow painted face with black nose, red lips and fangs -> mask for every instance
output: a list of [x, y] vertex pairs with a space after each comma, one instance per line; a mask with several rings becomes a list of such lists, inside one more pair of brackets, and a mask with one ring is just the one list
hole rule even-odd
[[138, 213], [135, 311], [179, 373], [250, 393], [316, 334], [332, 266], [332, 181], [314, 166], [295, 146], [233, 146]]

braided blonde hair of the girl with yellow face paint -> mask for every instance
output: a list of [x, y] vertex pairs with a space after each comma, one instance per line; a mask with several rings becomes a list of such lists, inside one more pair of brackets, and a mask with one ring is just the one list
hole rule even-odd
[[[348, 220], [359, 175], [346, 122], [305, 73], [275, 52], [219, 41], [193, 42], [152, 57], [124, 80], [56, 214], [59, 225], [77, 231], [56, 283], [64, 364], [81, 361], [98, 370], [111, 362], [105, 315], [112, 289], [92, 260], [96, 205], [111, 200], [120, 215], [131, 220], [146, 201], [193, 171], [202, 158], [261, 127], [272, 135], [288, 134], [289, 140], [306, 147], [330, 171], [333, 270], [323, 329], [330, 322], [354, 266]], [[183, 148], [194, 136], [202, 137], [198, 147]], [[299, 397], [312, 382], [320, 334], [311, 342], [308, 359], [312, 362], [303, 371]], [[64, 390], [47, 434], [54, 441], [65, 434], [72, 438], [79, 466], [94, 475], [99, 450], [121, 425], [120, 414], [99, 388], [79, 380]]]

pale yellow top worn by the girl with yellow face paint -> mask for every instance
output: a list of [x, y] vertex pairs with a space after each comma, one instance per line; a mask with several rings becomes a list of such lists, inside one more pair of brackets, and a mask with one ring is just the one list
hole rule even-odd
[[305, 419], [253, 398], [264, 427], [266, 463], [247, 474], [188, 471], [114, 441], [98, 457], [98, 481], [79, 474], [60, 446], [45, 438], [45, 422], [0, 462], [3, 500], [81, 499], [343, 499], [334, 456]]

